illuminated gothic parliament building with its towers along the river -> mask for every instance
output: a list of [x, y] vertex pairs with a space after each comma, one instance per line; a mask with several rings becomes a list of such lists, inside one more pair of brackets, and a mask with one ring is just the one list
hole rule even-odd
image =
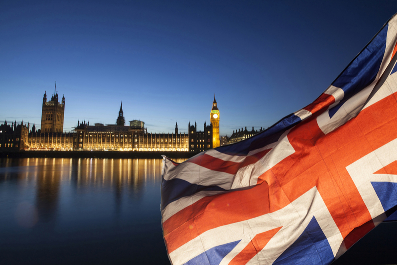
[[65, 96], [59, 102], [55, 91], [47, 101], [45, 91], [42, 101], [41, 127], [16, 121], [0, 125], [0, 151], [21, 150], [117, 150], [117, 151], [184, 151], [201, 152], [219, 146], [219, 109], [214, 96], [210, 111], [211, 123], [203, 130], [189, 122], [188, 133], [181, 133], [178, 124], [172, 133], [148, 133], [145, 123], [129, 121], [125, 125], [122, 103], [115, 124], [77, 122], [73, 132], [63, 132]]

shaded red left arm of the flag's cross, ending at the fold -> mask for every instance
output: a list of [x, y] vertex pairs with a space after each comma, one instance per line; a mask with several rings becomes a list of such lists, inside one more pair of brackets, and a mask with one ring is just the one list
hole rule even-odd
[[163, 223], [169, 253], [207, 230], [269, 213], [266, 182], [249, 190], [204, 197]]

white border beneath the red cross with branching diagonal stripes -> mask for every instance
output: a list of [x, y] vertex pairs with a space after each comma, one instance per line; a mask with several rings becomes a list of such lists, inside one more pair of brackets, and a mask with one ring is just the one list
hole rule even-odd
[[205, 250], [241, 240], [221, 262], [228, 264], [255, 235], [282, 226], [265, 248], [253, 258], [256, 264], [272, 264], [302, 234], [313, 216], [336, 255], [343, 240], [342, 235], [316, 187], [276, 212], [208, 230], [169, 255], [173, 264], [184, 264]]

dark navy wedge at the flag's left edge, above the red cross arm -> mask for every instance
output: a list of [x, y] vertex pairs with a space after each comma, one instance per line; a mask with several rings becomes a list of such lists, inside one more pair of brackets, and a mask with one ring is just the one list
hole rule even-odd
[[190, 182], [183, 179], [171, 179], [165, 180], [163, 178], [161, 182], [161, 210], [182, 197], [191, 196], [200, 191], [224, 191], [225, 189], [218, 186], [203, 186], [197, 184], [191, 184]]

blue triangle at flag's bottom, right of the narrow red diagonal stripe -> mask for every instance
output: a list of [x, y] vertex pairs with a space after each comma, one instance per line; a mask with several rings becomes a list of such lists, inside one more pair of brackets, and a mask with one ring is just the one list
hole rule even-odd
[[273, 264], [329, 264], [333, 259], [331, 246], [313, 216], [299, 238]]

